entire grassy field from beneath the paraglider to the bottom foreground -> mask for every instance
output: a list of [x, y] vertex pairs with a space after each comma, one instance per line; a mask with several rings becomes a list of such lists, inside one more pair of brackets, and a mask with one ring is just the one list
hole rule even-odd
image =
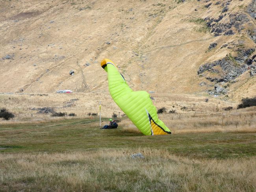
[[[256, 190], [255, 128], [152, 137], [128, 124], [1, 124], [0, 191]], [[132, 159], [134, 153], [145, 158]]]

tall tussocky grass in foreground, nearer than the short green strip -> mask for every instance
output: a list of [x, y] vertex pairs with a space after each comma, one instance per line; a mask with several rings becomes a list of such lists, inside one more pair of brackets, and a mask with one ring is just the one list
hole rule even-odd
[[[130, 155], [143, 151], [145, 159]], [[193, 160], [166, 150], [0, 154], [1, 191], [256, 190], [256, 158]]]

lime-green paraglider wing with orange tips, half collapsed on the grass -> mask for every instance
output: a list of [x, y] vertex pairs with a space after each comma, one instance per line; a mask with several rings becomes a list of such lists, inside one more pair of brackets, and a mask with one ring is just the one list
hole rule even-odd
[[146, 91], [133, 91], [113, 61], [104, 59], [101, 66], [108, 72], [108, 88], [113, 100], [144, 135], [171, 134], [158, 119], [156, 107]]

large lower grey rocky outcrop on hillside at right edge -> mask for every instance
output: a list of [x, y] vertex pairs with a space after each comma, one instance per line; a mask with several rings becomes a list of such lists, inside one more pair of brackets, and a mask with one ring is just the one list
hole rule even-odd
[[[254, 48], [250, 48], [248, 50], [238, 49], [238, 55], [236, 57], [226, 55], [223, 59], [201, 65], [197, 74], [204, 76], [206, 71], [219, 74], [219, 76], [216, 77], [207, 77], [208, 80], [217, 83], [232, 81], [247, 70], [250, 70], [250, 74], [253, 76], [256, 74], [256, 55], [252, 55], [254, 51]], [[217, 70], [215, 66], [220, 66], [222, 71]]]

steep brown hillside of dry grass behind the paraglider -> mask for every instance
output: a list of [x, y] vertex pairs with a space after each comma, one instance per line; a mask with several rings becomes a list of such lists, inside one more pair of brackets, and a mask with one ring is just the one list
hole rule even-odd
[[[134, 90], [191, 94], [218, 83], [229, 98], [255, 96], [256, 78], [249, 71], [237, 74], [234, 83], [206, 79], [223, 77], [221, 69], [198, 75], [201, 65], [228, 54], [234, 58], [239, 48], [255, 50], [250, 7], [256, 8], [255, 0], [2, 1], [0, 92], [108, 93], [100, 61], [109, 58]], [[216, 36], [213, 23], [232, 25]], [[234, 34], [225, 35], [230, 29]], [[238, 65], [252, 59], [254, 66], [254, 55], [251, 51]]]

